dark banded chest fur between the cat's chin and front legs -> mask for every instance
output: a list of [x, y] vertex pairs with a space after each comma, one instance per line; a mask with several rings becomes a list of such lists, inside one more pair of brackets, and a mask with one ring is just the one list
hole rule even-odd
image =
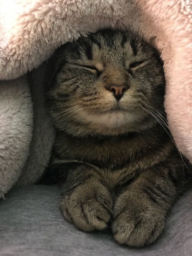
[[171, 147], [163, 145], [162, 136], [149, 132], [76, 138], [60, 132], [56, 135], [55, 159], [94, 166], [108, 184], [114, 186], [166, 158]]

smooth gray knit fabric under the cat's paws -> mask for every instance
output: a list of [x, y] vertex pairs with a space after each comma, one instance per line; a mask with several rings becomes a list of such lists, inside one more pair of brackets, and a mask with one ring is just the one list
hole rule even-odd
[[0, 255], [14, 256], [191, 256], [192, 191], [167, 220], [161, 238], [147, 248], [118, 245], [109, 230], [85, 233], [67, 223], [54, 186], [14, 188], [0, 200]]

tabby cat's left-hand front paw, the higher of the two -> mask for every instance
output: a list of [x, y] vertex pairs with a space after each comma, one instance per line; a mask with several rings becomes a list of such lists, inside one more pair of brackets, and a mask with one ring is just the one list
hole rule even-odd
[[65, 218], [84, 231], [106, 228], [112, 206], [111, 194], [101, 184], [80, 185], [61, 201]]

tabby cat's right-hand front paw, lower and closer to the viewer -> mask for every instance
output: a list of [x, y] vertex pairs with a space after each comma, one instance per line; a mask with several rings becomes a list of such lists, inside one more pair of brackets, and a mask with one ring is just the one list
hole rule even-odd
[[144, 246], [153, 243], [165, 225], [166, 213], [141, 195], [122, 194], [114, 206], [112, 231], [121, 244]]

